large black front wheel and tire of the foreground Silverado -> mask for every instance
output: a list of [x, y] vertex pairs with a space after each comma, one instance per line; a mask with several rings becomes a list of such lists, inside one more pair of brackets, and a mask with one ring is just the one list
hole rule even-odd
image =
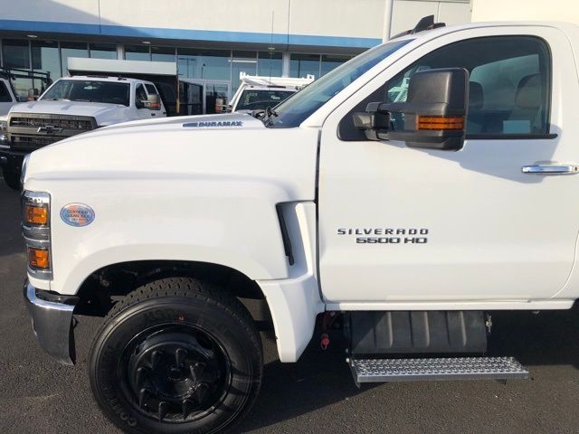
[[252, 408], [261, 339], [245, 307], [192, 278], [163, 278], [124, 297], [90, 349], [100, 409], [135, 434], [207, 434]]

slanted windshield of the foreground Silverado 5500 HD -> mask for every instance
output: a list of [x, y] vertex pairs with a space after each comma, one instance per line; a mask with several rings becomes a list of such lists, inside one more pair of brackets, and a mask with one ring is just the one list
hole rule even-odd
[[365, 71], [383, 61], [403, 45], [413, 40], [388, 42], [368, 50], [346, 61], [334, 71], [328, 72], [322, 78], [314, 81], [291, 98], [286, 99], [275, 108], [273, 116], [268, 118], [268, 127], [289, 128], [299, 127], [312, 113], [327, 103], [347, 85], [356, 80]]

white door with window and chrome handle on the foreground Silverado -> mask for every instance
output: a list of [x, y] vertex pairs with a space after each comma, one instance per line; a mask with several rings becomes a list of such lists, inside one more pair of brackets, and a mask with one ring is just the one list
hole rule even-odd
[[[368, 102], [404, 101], [414, 72], [447, 67], [470, 71], [461, 151], [368, 141], [353, 128]], [[576, 71], [555, 28], [463, 30], [424, 43], [335, 109], [318, 187], [330, 306], [554, 297], [579, 230]]]

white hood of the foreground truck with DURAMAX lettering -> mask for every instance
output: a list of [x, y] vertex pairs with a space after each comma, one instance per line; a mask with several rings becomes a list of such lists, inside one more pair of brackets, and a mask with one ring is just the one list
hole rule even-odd
[[304, 155], [308, 176], [315, 172], [317, 147], [317, 128], [269, 128], [242, 113], [145, 119], [44, 146], [31, 155], [25, 179], [110, 181], [130, 174], [175, 178], [240, 173], [254, 178], [265, 167], [274, 177], [283, 173], [291, 178], [301, 167], [289, 162]]

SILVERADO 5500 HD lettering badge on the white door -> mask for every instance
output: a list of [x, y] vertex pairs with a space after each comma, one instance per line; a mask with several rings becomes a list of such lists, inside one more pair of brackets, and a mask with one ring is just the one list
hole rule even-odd
[[337, 235], [351, 236], [357, 244], [426, 244], [426, 228], [337, 228]]

